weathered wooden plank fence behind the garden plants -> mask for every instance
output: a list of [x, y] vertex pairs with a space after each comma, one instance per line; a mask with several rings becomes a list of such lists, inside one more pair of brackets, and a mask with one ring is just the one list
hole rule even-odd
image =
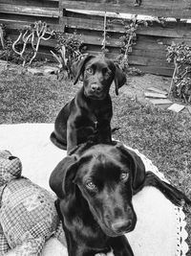
[[[19, 4], [18, 4], [19, 3]], [[98, 11], [98, 13], [80, 12]], [[142, 0], [135, 6], [135, 0], [0, 0], [0, 23], [9, 29], [13, 39], [18, 29], [36, 20], [46, 21], [53, 30], [81, 35], [87, 51], [101, 50], [104, 28], [104, 12], [107, 13], [107, 48], [110, 58], [120, 53], [119, 38], [124, 35], [124, 26], [109, 12], [145, 14], [159, 17], [191, 18], [190, 0]], [[166, 47], [172, 43], [185, 41], [191, 46], [191, 24], [183, 21], [168, 21], [165, 25], [154, 21], [148, 27], [138, 29], [137, 44], [129, 57], [129, 62], [140, 70], [170, 76], [173, 66], [166, 61]], [[40, 49], [44, 57], [50, 57], [56, 42], [43, 41]]]

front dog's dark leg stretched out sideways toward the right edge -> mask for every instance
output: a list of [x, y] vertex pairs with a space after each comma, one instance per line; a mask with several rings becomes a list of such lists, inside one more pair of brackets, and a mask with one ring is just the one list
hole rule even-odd
[[167, 182], [162, 181], [152, 172], [146, 173], [144, 186], [156, 187], [166, 198], [178, 206], [183, 206], [184, 202], [191, 205], [191, 200], [187, 198], [182, 192], [180, 192], [180, 190], [176, 189]]

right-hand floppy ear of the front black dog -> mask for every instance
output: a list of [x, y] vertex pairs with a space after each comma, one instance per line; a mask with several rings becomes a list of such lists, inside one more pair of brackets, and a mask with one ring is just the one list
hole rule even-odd
[[122, 144], [117, 144], [117, 149], [121, 151], [126, 159], [128, 160], [128, 163], [130, 163], [130, 168], [132, 171], [132, 188], [134, 193], [138, 192], [139, 189], [142, 188], [142, 185], [144, 184], [145, 180], [145, 167], [141, 160], [141, 158], [138, 156], [138, 154], [135, 151], [131, 151], [127, 148], [125, 148]]

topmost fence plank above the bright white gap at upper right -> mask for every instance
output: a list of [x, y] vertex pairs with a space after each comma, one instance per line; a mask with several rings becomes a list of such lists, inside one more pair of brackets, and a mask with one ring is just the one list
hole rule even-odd
[[161, 17], [191, 17], [190, 0], [142, 0], [140, 6], [135, 6], [135, 0], [60, 0], [60, 8], [99, 12], [126, 12]]

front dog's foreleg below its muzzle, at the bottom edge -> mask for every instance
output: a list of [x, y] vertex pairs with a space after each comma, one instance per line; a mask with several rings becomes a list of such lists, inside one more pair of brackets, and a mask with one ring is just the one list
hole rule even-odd
[[125, 236], [110, 238], [109, 244], [115, 256], [134, 256], [131, 245]]

